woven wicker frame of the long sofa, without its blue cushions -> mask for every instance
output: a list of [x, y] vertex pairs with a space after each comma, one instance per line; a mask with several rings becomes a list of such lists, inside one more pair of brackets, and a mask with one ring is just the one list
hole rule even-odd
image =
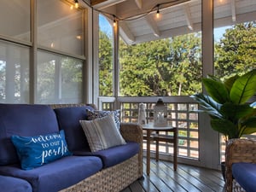
[[[52, 104], [51, 108], [82, 107], [88, 104]], [[90, 105], [96, 108], [95, 105]], [[61, 192], [118, 192], [138, 178], [143, 177], [143, 130], [140, 125], [121, 123], [121, 135], [125, 141], [140, 143], [139, 154], [129, 160], [103, 169], [95, 175], [85, 178], [73, 186], [61, 190]]]

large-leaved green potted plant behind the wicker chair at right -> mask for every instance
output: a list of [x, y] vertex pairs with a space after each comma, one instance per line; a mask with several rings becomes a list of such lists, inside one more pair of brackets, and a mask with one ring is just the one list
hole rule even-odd
[[256, 69], [220, 80], [214, 76], [202, 79], [207, 94], [191, 96], [211, 118], [212, 129], [222, 133], [225, 141], [256, 132]]

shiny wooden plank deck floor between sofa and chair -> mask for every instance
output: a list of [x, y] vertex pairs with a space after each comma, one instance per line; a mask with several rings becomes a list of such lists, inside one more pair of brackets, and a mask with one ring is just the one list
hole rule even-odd
[[151, 160], [150, 176], [147, 176], [145, 160], [143, 167], [144, 178], [121, 192], [224, 192], [221, 172], [215, 170], [178, 164], [177, 172], [173, 172], [171, 162]]

